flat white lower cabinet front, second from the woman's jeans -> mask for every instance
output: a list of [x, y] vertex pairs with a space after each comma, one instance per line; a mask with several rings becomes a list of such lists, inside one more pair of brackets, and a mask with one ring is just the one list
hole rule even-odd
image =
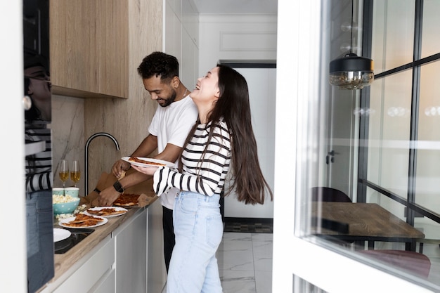
[[147, 214], [144, 209], [112, 233], [117, 293], [147, 292]]

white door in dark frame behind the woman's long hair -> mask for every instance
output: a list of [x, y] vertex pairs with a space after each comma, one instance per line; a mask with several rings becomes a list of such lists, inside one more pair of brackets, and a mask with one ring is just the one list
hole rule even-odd
[[[250, 63], [255, 65], [255, 63]], [[250, 66], [247, 65], [247, 66]], [[275, 156], [276, 68], [235, 67], [249, 88], [252, 128], [257, 140], [258, 159], [264, 178], [273, 190]], [[225, 197], [224, 216], [230, 218], [273, 218], [273, 202], [244, 204], [233, 196]]]

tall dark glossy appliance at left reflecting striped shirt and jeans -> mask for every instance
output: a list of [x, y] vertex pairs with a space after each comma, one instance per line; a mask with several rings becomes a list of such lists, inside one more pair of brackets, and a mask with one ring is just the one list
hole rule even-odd
[[[27, 287], [54, 275], [48, 0], [23, 0]], [[34, 147], [37, 145], [37, 147]]]

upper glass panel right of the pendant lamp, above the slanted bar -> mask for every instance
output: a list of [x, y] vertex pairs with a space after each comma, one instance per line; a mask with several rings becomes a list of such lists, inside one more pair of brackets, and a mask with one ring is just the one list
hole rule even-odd
[[412, 62], [415, 1], [375, 1], [373, 9], [375, 74]]

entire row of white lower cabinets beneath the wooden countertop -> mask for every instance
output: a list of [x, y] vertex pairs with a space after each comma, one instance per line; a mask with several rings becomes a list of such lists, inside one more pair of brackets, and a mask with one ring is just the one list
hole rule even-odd
[[160, 204], [139, 209], [39, 293], [161, 292], [166, 280], [161, 212]]

